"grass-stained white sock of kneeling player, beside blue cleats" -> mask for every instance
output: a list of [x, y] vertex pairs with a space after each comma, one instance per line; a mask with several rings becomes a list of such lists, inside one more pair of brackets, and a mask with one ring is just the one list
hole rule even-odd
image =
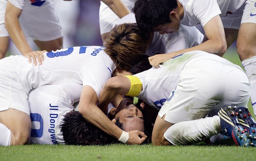
[[213, 116], [175, 123], [164, 137], [173, 145], [191, 145], [220, 133], [220, 129], [220, 117]]

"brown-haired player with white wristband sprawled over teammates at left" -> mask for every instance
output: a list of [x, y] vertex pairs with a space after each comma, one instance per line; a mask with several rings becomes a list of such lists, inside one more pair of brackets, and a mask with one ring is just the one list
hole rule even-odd
[[[126, 34], [119, 34], [124, 31]], [[23, 56], [0, 60], [0, 125], [3, 133], [14, 135], [15, 140], [9, 142], [9, 145], [29, 142], [31, 121], [28, 92], [42, 85], [60, 83], [83, 85], [78, 111], [88, 122], [124, 143], [140, 144], [145, 141], [144, 133], [138, 130], [129, 133], [121, 130], [97, 107], [98, 96], [104, 83], [116, 73], [128, 71], [139, 62], [147, 48], [147, 43], [137, 36], [140, 35], [140, 30], [133, 24], [116, 26], [111, 32], [106, 48], [82, 46], [45, 52], [42, 65], [34, 66]], [[127, 50], [116, 39], [141, 43], [136, 47], [131, 41], [128, 43], [131, 47]], [[9, 135], [5, 137], [5, 140], [8, 140]]]

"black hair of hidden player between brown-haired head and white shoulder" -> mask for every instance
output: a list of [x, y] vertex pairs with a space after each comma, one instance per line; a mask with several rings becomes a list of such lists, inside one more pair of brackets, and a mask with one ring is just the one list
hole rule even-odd
[[130, 69], [130, 73], [132, 74], [137, 74], [140, 73], [142, 71], [146, 71], [148, 69], [151, 69], [152, 66], [149, 64], [149, 56], [144, 54], [142, 56], [142, 58], [140, 59], [140, 62], [138, 62], [137, 64], [135, 64], [131, 69]]

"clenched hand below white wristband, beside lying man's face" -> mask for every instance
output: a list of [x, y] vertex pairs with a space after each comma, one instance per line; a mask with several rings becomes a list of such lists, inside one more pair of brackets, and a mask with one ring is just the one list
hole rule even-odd
[[147, 135], [139, 130], [129, 131], [129, 139], [127, 144], [142, 144], [145, 142]]

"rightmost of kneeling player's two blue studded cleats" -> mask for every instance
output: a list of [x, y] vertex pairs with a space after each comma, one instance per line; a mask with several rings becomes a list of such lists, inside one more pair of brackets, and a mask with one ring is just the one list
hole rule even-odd
[[248, 107], [238, 107], [235, 109], [239, 124], [247, 130], [247, 137], [250, 139], [249, 145], [256, 147], [256, 121], [251, 116]]

